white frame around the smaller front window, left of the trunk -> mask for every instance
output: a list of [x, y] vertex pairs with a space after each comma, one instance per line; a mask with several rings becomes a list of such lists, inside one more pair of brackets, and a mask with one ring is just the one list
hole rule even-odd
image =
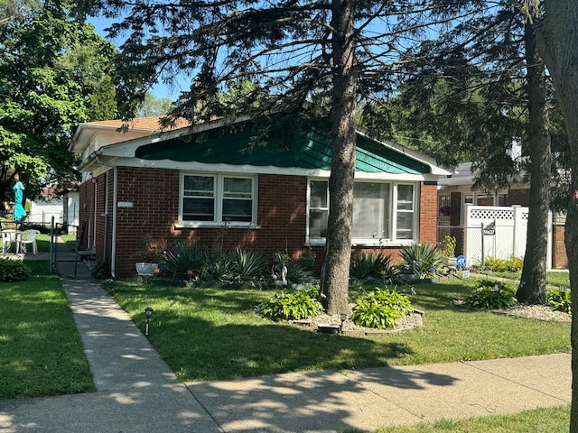
[[[214, 218], [213, 221], [197, 221], [197, 220], [184, 220], [182, 217], [183, 213], [183, 198], [184, 198], [184, 179], [187, 176], [202, 176], [202, 177], [212, 177], [214, 179], [213, 184], [213, 198], [214, 203]], [[248, 179], [251, 180], [251, 221], [226, 221], [223, 219], [223, 199], [224, 196], [224, 184], [225, 178], [234, 179]], [[247, 175], [246, 173], [224, 173], [224, 172], [199, 172], [199, 171], [182, 171], [180, 186], [179, 186], [179, 223], [178, 226], [187, 227], [251, 227], [256, 226], [256, 215], [257, 215], [257, 176]]]

